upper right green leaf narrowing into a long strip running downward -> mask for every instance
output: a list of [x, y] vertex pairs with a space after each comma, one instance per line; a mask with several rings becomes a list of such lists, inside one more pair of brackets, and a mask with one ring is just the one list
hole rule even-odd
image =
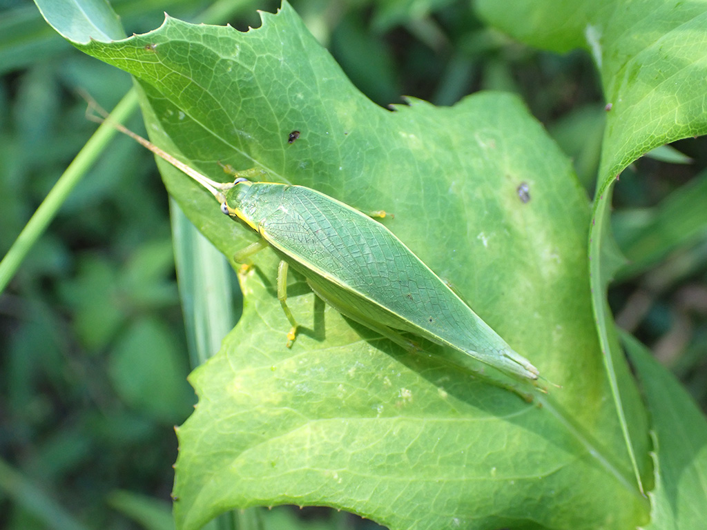
[[601, 73], [608, 112], [589, 239], [593, 305], [617, 411], [627, 441], [640, 455], [643, 432], [633, 430], [628, 419], [633, 385], [606, 302], [619, 264], [609, 228], [612, 187], [644, 153], [707, 131], [707, 2], [477, 0], [477, 7], [498, 28], [531, 45], [557, 52], [584, 47]]

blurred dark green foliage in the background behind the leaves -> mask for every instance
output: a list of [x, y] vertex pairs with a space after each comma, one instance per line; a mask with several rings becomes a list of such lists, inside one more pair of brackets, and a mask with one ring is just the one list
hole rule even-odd
[[[518, 45], [476, 18], [469, 1], [292, 4], [380, 105], [401, 95], [453, 105], [477, 90], [519, 93], [592, 196], [605, 111], [589, 54]], [[275, 11], [279, 2], [112, 5], [127, 33], [142, 33], [160, 25], [164, 11], [246, 30], [259, 25], [256, 9]], [[4, 255], [95, 131], [79, 91], [110, 110], [131, 81], [73, 49], [25, 0], [0, 0], [0, 75]], [[128, 125], [143, 132], [138, 115]], [[631, 264], [609, 293], [619, 324], [653, 348], [703, 410], [705, 147], [702, 138], [680, 141], [621, 175], [614, 230]], [[193, 361], [169, 215], [152, 155], [116, 138], [0, 294], [1, 527], [170, 528], [172, 426], [195, 397], [185, 381]], [[252, 528], [375, 527], [329, 510], [266, 514], [236, 519]]]

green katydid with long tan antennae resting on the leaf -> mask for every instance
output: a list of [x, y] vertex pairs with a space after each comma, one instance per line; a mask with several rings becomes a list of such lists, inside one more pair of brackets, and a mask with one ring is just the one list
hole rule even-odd
[[288, 346], [298, 328], [286, 303], [287, 270], [292, 266], [334, 309], [403, 346], [416, 348], [400, 335], [407, 332], [516, 379], [538, 378], [530, 361], [513, 351], [448, 283], [370, 216], [308, 187], [243, 177], [267, 175], [262, 170], [234, 172], [233, 182], [216, 182], [124, 126], [114, 125], [192, 177], [214, 195], [223, 213], [261, 236], [239, 252], [236, 261], [267, 246], [279, 254], [278, 298], [292, 326]]

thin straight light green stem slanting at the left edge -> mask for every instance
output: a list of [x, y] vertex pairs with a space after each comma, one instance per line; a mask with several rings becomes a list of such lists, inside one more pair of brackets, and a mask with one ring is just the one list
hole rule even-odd
[[[136, 107], [136, 92], [135, 90], [130, 90], [120, 100], [113, 112], [110, 113], [110, 119], [113, 122], [122, 123], [134, 112]], [[95, 160], [103, 153], [105, 146], [107, 146], [116, 132], [115, 128], [110, 124], [102, 124], [98, 127], [98, 130], [95, 131], [93, 136], [86, 142], [86, 145], [83, 146], [83, 149], [76, 155], [74, 161], [59, 177], [57, 184], [54, 184], [52, 191], [47, 194], [47, 197], [42, 201], [42, 204], [37, 208], [37, 211], [35, 211], [22, 232], [20, 232], [8, 253], [0, 261], [0, 293], [5, 290], [7, 284], [15, 276], [27, 254], [47, 230], [49, 223], [57, 216], [57, 212], [66, 201], [66, 197], [81, 182], [83, 176], [86, 175]]]

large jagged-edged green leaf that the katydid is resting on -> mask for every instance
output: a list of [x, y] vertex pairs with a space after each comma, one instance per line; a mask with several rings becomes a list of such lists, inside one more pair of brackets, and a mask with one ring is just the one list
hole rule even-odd
[[[394, 212], [390, 229], [562, 385], [527, 404], [351, 324], [301, 282], [288, 301], [308, 329], [287, 349], [276, 257], [264, 252], [241, 278], [243, 318], [192, 376], [199, 406], [178, 432], [180, 528], [282, 503], [339, 507], [393, 529], [645, 522], [592, 317], [588, 201], [517, 98], [383, 110], [288, 4], [248, 33], [168, 18], [128, 40], [74, 43], [132, 73], [153, 141], [207, 175], [218, 178], [218, 161], [258, 166]], [[293, 130], [300, 137], [288, 143]], [[222, 252], [255, 240], [160, 167]]]

